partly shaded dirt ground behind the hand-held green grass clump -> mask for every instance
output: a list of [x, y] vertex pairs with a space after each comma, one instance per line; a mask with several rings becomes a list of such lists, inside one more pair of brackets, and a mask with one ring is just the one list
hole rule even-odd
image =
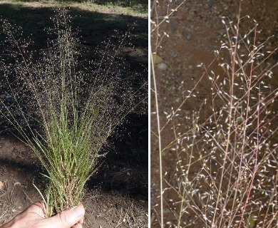
[[[130, 31], [133, 48], [120, 49], [130, 71], [138, 73], [135, 86], [148, 78], [148, 15], [91, 4], [53, 1], [1, 1], [0, 14], [22, 27], [34, 51], [47, 48], [45, 28], [52, 26], [54, 9], [71, 6], [72, 28], [78, 28], [85, 58], [94, 55], [102, 41], [115, 31]], [[4, 37], [0, 36], [2, 40]], [[117, 44], [115, 44], [117, 45]], [[3, 91], [2, 91], [3, 92]], [[143, 91], [143, 93], [146, 93]], [[88, 181], [83, 204], [84, 227], [148, 227], [148, 111], [140, 105], [109, 139], [108, 155], [98, 173]], [[41, 167], [34, 154], [5, 129], [0, 138], [0, 225], [40, 199], [33, 184], [43, 190]]]

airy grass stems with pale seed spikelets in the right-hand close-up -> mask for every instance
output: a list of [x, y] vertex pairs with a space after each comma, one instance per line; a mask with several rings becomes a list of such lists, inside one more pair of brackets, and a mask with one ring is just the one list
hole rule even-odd
[[[267, 50], [271, 37], [258, 41], [256, 21], [244, 36], [240, 36], [240, 15], [235, 23], [227, 18], [222, 22], [227, 30], [225, 41], [210, 66], [198, 66], [205, 71], [201, 78], [211, 82], [211, 96], [203, 98], [200, 110], [192, 110], [178, 123], [187, 129], [179, 132], [177, 115], [198, 95], [197, 85], [184, 91], [181, 105], [163, 121], [173, 123], [175, 133], [165, 147], [160, 138], [165, 125], [160, 125], [161, 111], [156, 110], [158, 134], [154, 134], [160, 154], [171, 148], [177, 155], [176, 180], [161, 175], [161, 227], [278, 227], [278, 88], [272, 86], [277, 48]], [[159, 107], [158, 99], [155, 105]], [[173, 199], [164, 197], [167, 191]], [[175, 222], [168, 223], [167, 217], [163, 221], [163, 204]]]

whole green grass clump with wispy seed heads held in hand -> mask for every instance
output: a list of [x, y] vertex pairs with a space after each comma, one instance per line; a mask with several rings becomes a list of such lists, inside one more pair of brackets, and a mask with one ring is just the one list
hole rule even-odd
[[134, 73], [117, 57], [128, 33], [118, 45], [105, 43], [104, 51], [96, 51], [98, 61], [87, 63], [71, 16], [59, 10], [53, 21], [56, 39], [40, 58], [15, 26], [1, 21], [9, 46], [1, 56], [1, 124], [16, 128], [41, 161], [47, 217], [81, 201], [86, 181], [101, 165], [101, 148], [142, 101], [134, 100], [138, 89], [130, 87]]

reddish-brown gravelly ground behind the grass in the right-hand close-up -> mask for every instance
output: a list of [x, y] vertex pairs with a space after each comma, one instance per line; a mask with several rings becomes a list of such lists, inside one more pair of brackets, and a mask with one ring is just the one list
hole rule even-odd
[[[182, 1], [158, 1], [156, 7], [151, 13], [151, 19], [157, 24], [163, 21], [164, 16], [168, 15], [170, 9], [175, 9]], [[153, 5], [153, 2], [152, 4]], [[269, 36], [273, 36], [267, 44], [267, 51], [273, 51], [277, 48], [278, 41], [278, 4], [276, 1], [242, 1], [241, 16], [249, 15], [250, 19], [244, 19], [240, 24], [240, 34], [249, 31], [254, 25], [253, 19], [259, 24], [258, 41], [262, 42]], [[237, 20], [239, 11], [239, 1], [185, 1], [167, 20], [160, 24], [158, 43], [158, 56], [163, 59], [163, 63], [155, 65], [156, 81], [158, 86], [158, 103], [160, 105], [160, 123], [163, 126], [167, 122], [166, 116], [180, 106], [184, 98], [182, 93], [185, 90], [192, 90], [204, 73], [204, 68], [197, 68], [200, 63], [209, 66], [215, 58], [214, 51], [219, 50], [222, 40], [225, 40], [225, 26], [222, 24], [222, 16], [228, 17], [230, 21]], [[158, 18], [157, 18], [158, 16]], [[158, 21], [156, 21], [158, 19]], [[271, 22], [270, 22], [271, 21]], [[154, 26], [153, 26], [154, 28]], [[152, 46], [155, 47], [157, 31], [151, 35]], [[169, 37], [163, 36], [167, 33]], [[163, 37], [163, 38], [162, 38]], [[152, 50], [154, 51], [154, 49]], [[270, 64], [277, 63], [277, 53], [269, 59]], [[217, 69], [211, 68], [216, 71]], [[269, 81], [272, 88], [277, 88], [277, 68], [274, 70], [272, 81]], [[153, 86], [153, 81], [151, 81]], [[153, 87], [152, 87], [153, 88]], [[210, 96], [210, 81], [208, 78], [200, 81], [197, 87], [197, 98], [188, 100], [186, 105], [181, 106], [179, 116], [175, 118], [175, 123], [181, 123], [180, 132], [182, 132], [182, 122], [186, 115], [191, 115], [192, 110], [200, 110], [204, 98]], [[157, 132], [155, 98], [151, 94], [151, 129]], [[277, 112], [277, 106], [273, 107]], [[207, 116], [209, 110], [201, 109], [201, 115]], [[162, 132], [163, 147], [168, 145], [174, 139], [173, 124], [167, 125]], [[151, 227], [160, 227], [160, 176], [159, 176], [159, 150], [158, 140], [151, 135]], [[163, 173], [165, 180], [171, 182], [175, 180], [175, 167], [177, 157], [172, 150], [163, 152]], [[194, 173], [192, 174], [194, 175]], [[167, 184], [164, 185], [168, 187]], [[165, 190], [165, 202], [173, 199], [173, 192]], [[174, 197], [175, 199], [175, 197]], [[170, 202], [169, 202], [170, 204]], [[163, 213], [166, 227], [175, 227], [176, 220], [172, 209], [165, 206]], [[190, 215], [187, 218], [190, 219]]]

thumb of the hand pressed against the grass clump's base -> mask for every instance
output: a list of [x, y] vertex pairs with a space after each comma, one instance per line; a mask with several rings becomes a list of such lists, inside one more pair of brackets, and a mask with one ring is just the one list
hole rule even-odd
[[85, 209], [83, 205], [67, 209], [66, 211], [59, 212], [53, 217], [46, 219], [49, 227], [55, 226], [56, 228], [70, 228], [74, 224], [83, 220]]

